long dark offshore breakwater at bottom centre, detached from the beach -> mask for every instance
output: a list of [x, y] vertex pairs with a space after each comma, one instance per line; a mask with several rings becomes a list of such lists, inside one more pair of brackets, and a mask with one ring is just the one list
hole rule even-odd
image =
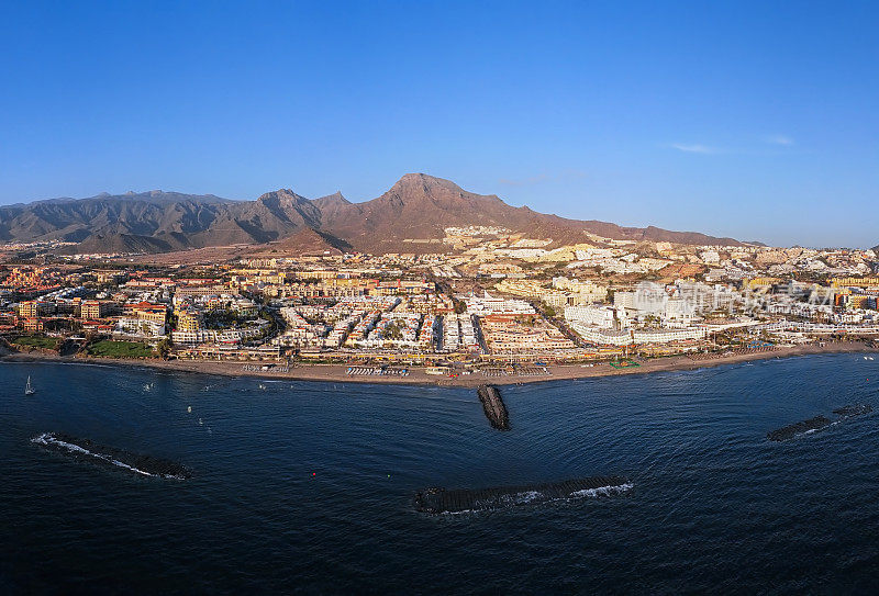
[[427, 488], [415, 494], [415, 510], [425, 514], [485, 511], [561, 499], [610, 496], [631, 488], [632, 484], [622, 476], [591, 476], [492, 488]]

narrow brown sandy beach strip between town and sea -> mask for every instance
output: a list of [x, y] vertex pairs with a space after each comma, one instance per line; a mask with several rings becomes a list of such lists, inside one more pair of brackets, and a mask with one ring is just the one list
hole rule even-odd
[[689, 371], [753, 362], [756, 360], [770, 360], [776, 358], [793, 358], [800, 356], [823, 353], [877, 353], [879, 350], [863, 341], [836, 341], [824, 346], [808, 345], [781, 347], [769, 351], [717, 355], [715, 358], [693, 360], [689, 356], [669, 356], [638, 362], [637, 367], [615, 369], [608, 362], [596, 362], [592, 367], [580, 364], [548, 366], [548, 375], [539, 376], [486, 376], [474, 373], [467, 376], [437, 376], [427, 374], [423, 368], [410, 368], [409, 376], [380, 376], [380, 375], [348, 375], [347, 364], [297, 364], [290, 367], [289, 372], [251, 371], [244, 370], [245, 362], [214, 362], [207, 360], [127, 360], [119, 358], [77, 358], [48, 355], [32, 355], [13, 352], [0, 357], [7, 362], [68, 362], [79, 364], [104, 364], [116, 367], [143, 367], [157, 370], [177, 372], [193, 372], [201, 374], [215, 374], [221, 376], [251, 376], [255, 379], [271, 379], [285, 381], [314, 381], [329, 383], [369, 383], [394, 385], [434, 385], [455, 387], [477, 387], [481, 384], [513, 385], [525, 383], [545, 383], [552, 381], [570, 381], [577, 379], [591, 379], [598, 376], [620, 376], [628, 374], [649, 374], [653, 372]]

